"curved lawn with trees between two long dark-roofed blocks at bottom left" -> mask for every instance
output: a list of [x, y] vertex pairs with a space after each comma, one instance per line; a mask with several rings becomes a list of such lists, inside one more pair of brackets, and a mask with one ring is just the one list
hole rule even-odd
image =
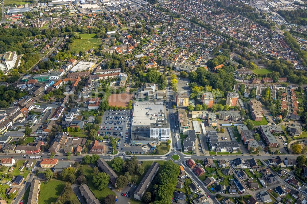
[[93, 194], [95, 195], [95, 197], [98, 200], [103, 200], [105, 197], [107, 197], [107, 195], [115, 195], [115, 193], [113, 191], [111, 191], [109, 188], [107, 189], [103, 189], [103, 191], [99, 191], [94, 184], [92, 183], [92, 179], [93, 179], [93, 168], [90, 165], [83, 165], [84, 170], [84, 175], [87, 178], [87, 185], [88, 187], [91, 189], [91, 191], [93, 192]]

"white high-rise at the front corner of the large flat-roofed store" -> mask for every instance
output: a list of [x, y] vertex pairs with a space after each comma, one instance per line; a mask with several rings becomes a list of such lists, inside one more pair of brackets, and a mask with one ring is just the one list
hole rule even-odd
[[150, 123], [150, 138], [158, 138], [159, 141], [169, 140], [169, 123], [166, 123], [165, 120]]

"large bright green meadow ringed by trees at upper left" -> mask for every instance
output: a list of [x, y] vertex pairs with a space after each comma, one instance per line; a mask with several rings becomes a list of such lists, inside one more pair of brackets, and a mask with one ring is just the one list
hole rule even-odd
[[[80, 34], [80, 33], [79, 33]], [[76, 39], [69, 46], [72, 52], [88, 51], [91, 48], [98, 48], [101, 45], [101, 39], [96, 37], [95, 33], [80, 34], [81, 39]]]

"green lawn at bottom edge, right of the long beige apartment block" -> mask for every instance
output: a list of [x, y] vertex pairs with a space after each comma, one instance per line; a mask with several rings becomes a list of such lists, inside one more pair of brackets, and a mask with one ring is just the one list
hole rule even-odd
[[64, 182], [60, 180], [52, 179], [47, 183], [41, 182], [38, 204], [56, 202], [56, 199], [61, 195], [64, 187]]

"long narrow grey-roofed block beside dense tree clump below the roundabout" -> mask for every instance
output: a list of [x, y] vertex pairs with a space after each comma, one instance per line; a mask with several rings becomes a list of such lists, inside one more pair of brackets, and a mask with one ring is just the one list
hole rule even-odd
[[144, 195], [145, 191], [147, 190], [150, 182], [153, 180], [154, 176], [156, 175], [157, 171], [159, 170], [160, 164], [157, 162], [153, 162], [150, 169], [148, 169], [147, 173], [143, 177], [141, 183], [138, 185], [137, 189], [134, 192], [134, 198], [137, 200], [141, 200], [142, 196]]

